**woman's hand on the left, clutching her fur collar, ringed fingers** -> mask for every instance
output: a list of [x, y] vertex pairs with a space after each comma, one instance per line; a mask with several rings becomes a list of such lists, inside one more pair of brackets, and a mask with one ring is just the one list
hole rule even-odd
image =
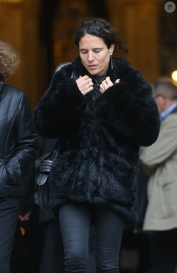
[[78, 85], [78, 89], [83, 95], [86, 95], [88, 92], [93, 90], [93, 82], [88, 75], [83, 77], [79, 76], [79, 78], [76, 80], [76, 83]]

